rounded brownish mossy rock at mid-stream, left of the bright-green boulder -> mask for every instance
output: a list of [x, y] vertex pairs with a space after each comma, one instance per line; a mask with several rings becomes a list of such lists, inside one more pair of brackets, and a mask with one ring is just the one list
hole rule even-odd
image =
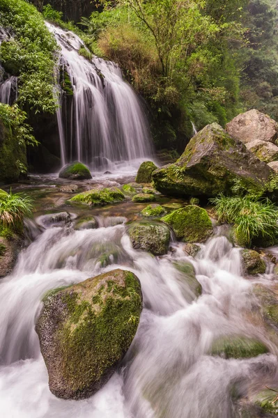
[[128, 227], [132, 247], [149, 251], [154, 256], [167, 254], [170, 231], [164, 224], [154, 222], [134, 222]]

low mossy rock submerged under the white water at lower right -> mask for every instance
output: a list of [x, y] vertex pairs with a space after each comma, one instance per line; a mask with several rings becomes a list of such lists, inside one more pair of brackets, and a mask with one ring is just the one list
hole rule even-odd
[[211, 355], [225, 359], [244, 359], [268, 353], [268, 348], [261, 341], [247, 336], [223, 336], [213, 343]]

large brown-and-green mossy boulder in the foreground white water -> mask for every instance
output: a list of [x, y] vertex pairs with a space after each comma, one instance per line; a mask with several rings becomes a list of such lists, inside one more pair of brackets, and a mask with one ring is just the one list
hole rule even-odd
[[53, 291], [36, 323], [49, 389], [64, 399], [88, 398], [114, 373], [137, 331], [142, 309], [137, 277], [100, 274]]

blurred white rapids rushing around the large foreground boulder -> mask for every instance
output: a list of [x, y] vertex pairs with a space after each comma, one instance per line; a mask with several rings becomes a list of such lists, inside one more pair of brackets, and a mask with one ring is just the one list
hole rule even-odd
[[[154, 258], [132, 249], [122, 222], [102, 219], [103, 227], [95, 230], [46, 229], [1, 281], [1, 417], [229, 418], [231, 387], [246, 395], [250, 380], [267, 382], [265, 375], [277, 371], [275, 347], [244, 315], [252, 285], [240, 277], [239, 249], [219, 236], [203, 246], [198, 258], [185, 256], [183, 245], [175, 242], [173, 253]], [[115, 223], [120, 224], [111, 226]], [[118, 264], [100, 268], [98, 256], [115, 250]], [[203, 288], [197, 300], [173, 261], [193, 263]], [[40, 300], [49, 289], [118, 267], [137, 274], [144, 295], [124, 367], [85, 401], [55, 398], [34, 329]], [[275, 355], [244, 360], [208, 355], [215, 338], [234, 333], [264, 341]]]

